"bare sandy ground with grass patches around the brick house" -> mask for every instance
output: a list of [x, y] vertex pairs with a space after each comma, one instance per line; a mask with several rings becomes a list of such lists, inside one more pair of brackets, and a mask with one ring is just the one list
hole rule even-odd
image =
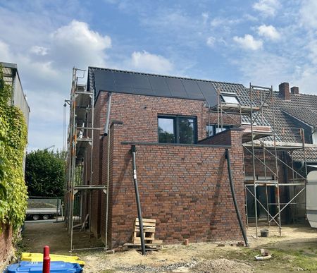
[[[46, 225], [46, 226], [45, 226]], [[46, 230], [46, 231], [44, 231]], [[164, 245], [163, 250], [149, 251], [142, 256], [137, 250], [105, 254], [76, 253], [86, 265], [84, 272], [317, 272], [317, 230], [309, 226], [283, 226], [269, 229], [268, 238], [256, 238], [255, 229], [247, 229], [249, 248], [231, 246], [234, 241]], [[77, 234], [89, 241], [85, 233]], [[85, 235], [85, 236], [84, 236]], [[94, 241], [99, 243], [99, 241]], [[51, 253], [66, 254], [69, 240], [63, 223], [27, 224], [23, 233], [24, 250], [39, 252], [50, 245]], [[75, 243], [76, 244], [76, 243]], [[254, 256], [265, 248], [271, 260], [256, 261]]]

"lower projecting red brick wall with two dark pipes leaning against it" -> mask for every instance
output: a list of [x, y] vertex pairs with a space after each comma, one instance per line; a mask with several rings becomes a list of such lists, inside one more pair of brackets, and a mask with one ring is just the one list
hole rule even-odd
[[[113, 128], [108, 238], [112, 247], [130, 241], [132, 223], [137, 217], [130, 145], [121, 144], [122, 127]], [[243, 215], [240, 133], [226, 134], [235, 138], [230, 152]], [[157, 219], [157, 238], [166, 243], [185, 238], [195, 242], [242, 238], [230, 194], [224, 147], [137, 145], [137, 176], [142, 214]]]

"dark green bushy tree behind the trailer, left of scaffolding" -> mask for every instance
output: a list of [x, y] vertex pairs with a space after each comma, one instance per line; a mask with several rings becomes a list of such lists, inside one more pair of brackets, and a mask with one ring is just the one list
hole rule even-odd
[[63, 196], [65, 160], [61, 152], [37, 150], [27, 153], [25, 182], [30, 196]]

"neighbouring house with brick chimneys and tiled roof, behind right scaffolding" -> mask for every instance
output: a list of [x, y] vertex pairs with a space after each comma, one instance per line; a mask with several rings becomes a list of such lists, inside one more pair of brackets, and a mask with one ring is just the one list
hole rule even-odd
[[[235, 92], [237, 99], [243, 104], [249, 104], [246, 99], [250, 97], [249, 88], [244, 92]], [[253, 103], [259, 105], [260, 95], [265, 97], [268, 91], [254, 90]], [[262, 98], [263, 99], [263, 98]], [[274, 104], [274, 105], [273, 105]], [[281, 83], [278, 91], [273, 91], [271, 96], [264, 103], [263, 108], [259, 112], [257, 123], [261, 126], [270, 126], [276, 133], [276, 148], [278, 155], [278, 180], [281, 184], [290, 184], [290, 186], [280, 186], [280, 208], [282, 209], [299, 191], [304, 189], [305, 183], [302, 177], [306, 177], [306, 172], [316, 169], [317, 167], [317, 143], [316, 143], [316, 109], [317, 109], [317, 96], [306, 95], [299, 92], [299, 87], [292, 87], [290, 89], [289, 83]], [[254, 116], [257, 113], [254, 114]], [[244, 119], [245, 121], [245, 119]], [[247, 124], [249, 119], [247, 119]], [[246, 125], [244, 125], [245, 127]], [[263, 135], [264, 136], [264, 135]], [[255, 154], [263, 162], [263, 151], [265, 146], [271, 153], [275, 154], [273, 145], [273, 135], [264, 136], [259, 140], [255, 140], [256, 144]], [[250, 143], [244, 143], [244, 170], [246, 181], [253, 179], [253, 168], [251, 162], [251, 153], [247, 149], [251, 149]], [[271, 176], [272, 180], [276, 180], [273, 175], [276, 162], [275, 157], [266, 151], [266, 164], [273, 171], [264, 168], [263, 164], [256, 161], [256, 176], [263, 180], [265, 172]], [[288, 165], [288, 166], [286, 166]], [[265, 194], [268, 190], [268, 194]], [[275, 214], [277, 208], [274, 207], [278, 202], [275, 189], [273, 187], [259, 187], [257, 197], [262, 202], [264, 207], [269, 207], [271, 214]], [[253, 190], [254, 193], [254, 190]], [[281, 214], [281, 220], [285, 223], [303, 222], [306, 218], [306, 196], [305, 190], [295, 198], [290, 205], [285, 207], [284, 212]], [[267, 199], [266, 199], [267, 198]], [[248, 206], [249, 205], [249, 206]], [[260, 207], [260, 209], [259, 209]], [[247, 212], [248, 218], [254, 221], [254, 198], [247, 192]], [[260, 210], [260, 211], [259, 211]], [[258, 206], [258, 217], [267, 217], [267, 213], [263, 207]]]

